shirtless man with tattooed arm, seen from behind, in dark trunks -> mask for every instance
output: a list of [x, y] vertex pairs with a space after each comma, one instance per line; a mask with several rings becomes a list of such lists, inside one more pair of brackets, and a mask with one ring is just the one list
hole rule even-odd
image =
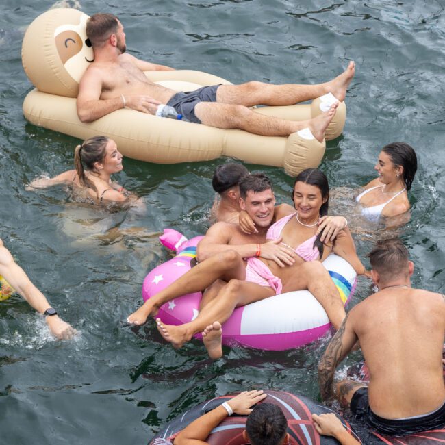
[[322, 399], [333, 397], [335, 368], [358, 340], [369, 387], [336, 383], [340, 403], [382, 434], [444, 427], [445, 297], [411, 288], [414, 265], [400, 240], [379, 241], [368, 256], [379, 292], [351, 309], [329, 342], [318, 366]]

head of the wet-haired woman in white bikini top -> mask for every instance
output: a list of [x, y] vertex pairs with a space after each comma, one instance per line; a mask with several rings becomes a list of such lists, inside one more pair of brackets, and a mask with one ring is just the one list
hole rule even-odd
[[405, 142], [387, 144], [379, 154], [375, 169], [383, 183], [401, 181], [408, 191], [417, 171], [416, 152]]

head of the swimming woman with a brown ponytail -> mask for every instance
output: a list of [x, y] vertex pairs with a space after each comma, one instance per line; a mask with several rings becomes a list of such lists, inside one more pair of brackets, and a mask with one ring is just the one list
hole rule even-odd
[[82, 186], [95, 188], [86, 177], [88, 170], [98, 177], [107, 180], [113, 173], [123, 169], [122, 155], [116, 142], [106, 136], [94, 136], [77, 145], [74, 151], [74, 164]]

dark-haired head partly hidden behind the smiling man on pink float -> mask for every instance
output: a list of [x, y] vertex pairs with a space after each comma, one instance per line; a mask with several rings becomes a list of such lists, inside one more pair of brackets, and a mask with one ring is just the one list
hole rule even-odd
[[249, 170], [237, 162], [218, 165], [212, 178], [212, 187], [221, 199], [236, 201], [240, 199], [240, 181], [249, 175]]

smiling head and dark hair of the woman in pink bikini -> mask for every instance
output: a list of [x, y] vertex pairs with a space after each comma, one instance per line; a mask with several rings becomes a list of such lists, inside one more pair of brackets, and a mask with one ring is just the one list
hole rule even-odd
[[[292, 201], [298, 212], [298, 220], [307, 221], [312, 225], [327, 215], [329, 209], [329, 183], [325, 173], [318, 168], [306, 168], [295, 178], [292, 190]], [[314, 246], [323, 255], [323, 243], [317, 236]]]

